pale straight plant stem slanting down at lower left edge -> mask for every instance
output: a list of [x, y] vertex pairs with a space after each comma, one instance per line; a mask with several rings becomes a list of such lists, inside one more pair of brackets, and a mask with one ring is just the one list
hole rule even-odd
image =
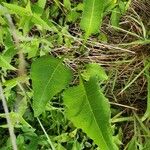
[[0, 83], [0, 98], [2, 99], [2, 104], [3, 104], [4, 112], [6, 115], [6, 120], [7, 120], [8, 129], [9, 129], [10, 139], [12, 142], [12, 147], [13, 147], [13, 150], [17, 150], [16, 135], [14, 133], [14, 127], [11, 123], [11, 119], [9, 116], [9, 111], [8, 111], [8, 107], [7, 107], [7, 103], [6, 103], [6, 99], [3, 93], [3, 88], [2, 88], [1, 83]]

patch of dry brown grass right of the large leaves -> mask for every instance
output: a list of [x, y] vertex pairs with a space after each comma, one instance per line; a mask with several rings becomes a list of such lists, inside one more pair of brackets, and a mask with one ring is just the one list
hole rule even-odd
[[[144, 60], [150, 55], [150, 44], [137, 43], [121, 46], [121, 44], [139, 40], [140, 37], [143, 38], [142, 27], [133, 21], [131, 17], [135, 17], [137, 20], [140, 19], [138, 21], [141, 21], [145, 30], [148, 31], [150, 27], [150, 1], [133, 0], [130, 9], [122, 17], [120, 23], [120, 28], [126, 32], [114, 30], [108, 24], [108, 18], [106, 17], [102, 32], [107, 35], [108, 43], [101, 43], [93, 36], [84, 46], [85, 50], [80, 51], [82, 39], [75, 37], [79, 37], [81, 31], [77, 25], [74, 25], [70, 29], [73, 35], [72, 38], [76, 41], [74, 47], [70, 49], [62, 47], [55, 49], [53, 52], [55, 55], [58, 55], [58, 53], [72, 54], [68, 56], [69, 61], [67, 59], [66, 62], [75, 71], [89, 62], [97, 62], [104, 66], [109, 75], [109, 80], [105, 84], [105, 94], [112, 102], [112, 108], [122, 111], [125, 117], [133, 116], [133, 112], [143, 116], [146, 110], [147, 81], [144, 72], [141, 74], [140, 72], [144, 68]], [[147, 22], [148, 20], [149, 22]], [[128, 31], [137, 36], [129, 34]], [[126, 90], [122, 91], [134, 79], [136, 80]], [[123, 122], [121, 124], [124, 145], [133, 136], [133, 125], [133, 122]]]

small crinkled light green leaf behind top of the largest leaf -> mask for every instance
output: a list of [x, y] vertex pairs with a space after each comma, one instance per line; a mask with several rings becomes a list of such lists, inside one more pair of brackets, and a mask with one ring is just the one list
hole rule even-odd
[[86, 70], [82, 73], [85, 80], [89, 80], [90, 77], [97, 76], [98, 80], [107, 80], [104, 69], [97, 63], [90, 63], [87, 65]]

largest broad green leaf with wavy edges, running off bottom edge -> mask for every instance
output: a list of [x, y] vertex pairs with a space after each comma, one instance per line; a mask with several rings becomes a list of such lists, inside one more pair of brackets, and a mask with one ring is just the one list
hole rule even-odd
[[81, 128], [102, 150], [118, 149], [113, 143], [110, 125], [110, 106], [100, 91], [97, 77], [91, 77], [64, 92], [66, 114], [73, 124]]

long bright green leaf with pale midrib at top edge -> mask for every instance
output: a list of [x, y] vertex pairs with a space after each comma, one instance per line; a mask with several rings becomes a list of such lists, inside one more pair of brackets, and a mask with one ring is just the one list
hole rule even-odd
[[102, 24], [105, 0], [84, 0], [83, 15], [81, 19], [81, 29], [88, 38], [92, 33], [97, 33]]

